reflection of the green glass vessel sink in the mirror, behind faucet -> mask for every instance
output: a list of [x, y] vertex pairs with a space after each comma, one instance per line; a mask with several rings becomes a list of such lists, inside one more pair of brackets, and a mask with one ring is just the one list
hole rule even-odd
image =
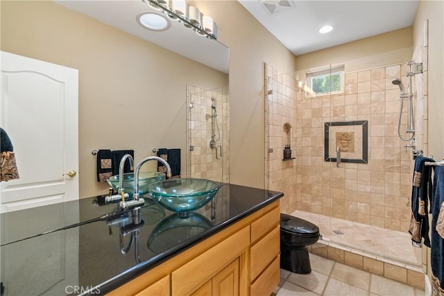
[[[148, 193], [148, 185], [165, 179], [165, 174], [160, 172], [139, 172], [139, 195]], [[115, 191], [119, 190], [119, 175], [113, 175], [107, 180]], [[123, 191], [130, 197], [134, 194], [134, 173], [123, 174]]]

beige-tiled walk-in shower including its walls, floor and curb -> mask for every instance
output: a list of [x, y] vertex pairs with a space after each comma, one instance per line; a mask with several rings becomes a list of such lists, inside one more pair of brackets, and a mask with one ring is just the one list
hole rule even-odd
[[[324, 231], [335, 232], [323, 238], [324, 247], [313, 246], [315, 254], [419, 288], [424, 288], [427, 248], [421, 251], [412, 247], [407, 231], [411, 218], [412, 150], [423, 150], [429, 156], [427, 21], [423, 32], [412, 56], [412, 61], [423, 67], [422, 73], [412, 77], [415, 142], [398, 137], [400, 89], [392, 83], [401, 78], [407, 87], [409, 61], [361, 71], [345, 69], [344, 92], [327, 96], [312, 96], [305, 82], [294, 78], [295, 73], [280, 73], [268, 64], [264, 81], [266, 188], [285, 193], [281, 211], [317, 221]], [[330, 141], [325, 123], [350, 121], [368, 121], [368, 160], [342, 162], [337, 167], [336, 162], [325, 161], [325, 138]], [[404, 132], [406, 128], [404, 103], [400, 126], [404, 139], [410, 136]], [[413, 143], [415, 148], [404, 147]], [[294, 159], [283, 158], [286, 145], [291, 145]], [[318, 220], [314, 221], [315, 217]], [[366, 225], [376, 227], [371, 229], [372, 236]], [[359, 233], [359, 229], [366, 230]], [[384, 236], [387, 239], [371, 238]], [[396, 243], [390, 243], [393, 239]]]

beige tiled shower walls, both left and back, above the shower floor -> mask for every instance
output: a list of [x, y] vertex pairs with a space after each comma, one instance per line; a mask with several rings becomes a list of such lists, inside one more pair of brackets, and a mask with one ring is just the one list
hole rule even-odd
[[[343, 94], [305, 97], [299, 82], [266, 65], [270, 77], [266, 86], [273, 90], [266, 95], [266, 180], [269, 189], [284, 191], [283, 212], [300, 209], [407, 231], [413, 156], [409, 148], [404, 152], [411, 141], [398, 137], [400, 89], [392, 80], [401, 78], [407, 88], [408, 70], [406, 62], [345, 73]], [[420, 76], [416, 81], [422, 80]], [[427, 103], [418, 95], [422, 90], [413, 90], [417, 147], [424, 150]], [[404, 103], [400, 129], [404, 138], [410, 135], [404, 132], [406, 111]], [[368, 121], [367, 164], [343, 162], [336, 168], [336, 163], [324, 161], [324, 123], [331, 121]], [[291, 147], [296, 159], [282, 162], [287, 141], [282, 127], [287, 122], [293, 127]], [[273, 153], [267, 153], [269, 148]]]

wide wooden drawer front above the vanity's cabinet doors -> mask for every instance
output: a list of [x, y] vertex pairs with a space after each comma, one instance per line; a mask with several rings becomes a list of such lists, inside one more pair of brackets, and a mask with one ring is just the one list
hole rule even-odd
[[232, 262], [250, 244], [250, 227], [244, 227], [171, 273], [172, 295], [188, 295]]

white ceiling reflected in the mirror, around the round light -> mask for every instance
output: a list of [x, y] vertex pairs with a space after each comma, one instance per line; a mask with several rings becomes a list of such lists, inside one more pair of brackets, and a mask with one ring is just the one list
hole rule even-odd
[[[142, 28], [136, 17], [142, 12], [159, 12], [150, 3], [154, 1], [55, 1], [71, 10], [97, 19], [105, 24], [153, 42], [164, 49], [178, 53], [205, 66], [228, 74], [229, 50], [217, 40], [198, 35], [192, 28], [187, 28], [182, 21], [167, 17], [169, 28], [164, 31], [151, 31]], [[166, 8], [164, 8], [166, 9]], [[173, 67], [173, 65], [169, 65]]]

